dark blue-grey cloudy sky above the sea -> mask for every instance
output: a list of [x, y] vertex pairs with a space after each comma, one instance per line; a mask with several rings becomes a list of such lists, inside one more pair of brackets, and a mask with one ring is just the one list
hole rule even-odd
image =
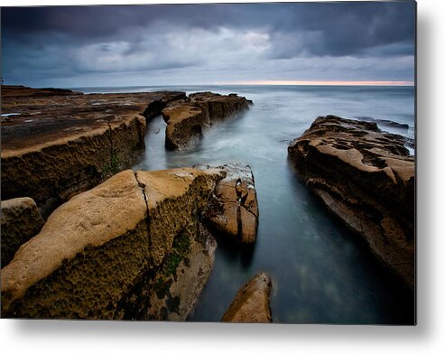
[[3, 7], [1, 30], [4, 83], [36, 88], [414, 80], [411, 1]]

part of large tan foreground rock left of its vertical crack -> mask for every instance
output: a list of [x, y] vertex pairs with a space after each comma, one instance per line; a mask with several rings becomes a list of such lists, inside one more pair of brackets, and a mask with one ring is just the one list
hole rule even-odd
[[149, 268], [146, 211], [129, 170], [60, 206], [2, 270], [2, 316], [112, 319]]

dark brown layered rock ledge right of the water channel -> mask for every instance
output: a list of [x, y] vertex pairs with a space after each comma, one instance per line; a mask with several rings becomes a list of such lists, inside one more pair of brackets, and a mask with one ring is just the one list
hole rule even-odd
[[414, 157], [373, 122], [318, 117], [288, 147], [312, 191], [414, 288]]

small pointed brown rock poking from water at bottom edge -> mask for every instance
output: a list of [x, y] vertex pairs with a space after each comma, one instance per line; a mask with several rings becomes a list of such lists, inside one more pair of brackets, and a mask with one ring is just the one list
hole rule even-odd
[[270, 295], [272, 281], [269, 275], [259, 273], [237, 293], [221, 321], [243, 323], [272, 322]]

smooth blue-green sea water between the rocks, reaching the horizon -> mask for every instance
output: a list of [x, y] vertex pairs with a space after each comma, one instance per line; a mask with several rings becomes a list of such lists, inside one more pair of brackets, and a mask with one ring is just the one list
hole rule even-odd
[[[165, 123], [153, 119], [146, 152], [134, 169], [197, 163], [248, 163], [255, 174], [260, 219], [255, 247], [218, 242], [215, 266], [189, 321], [220, 321], [236, 291], [260, 271], [272, 276], [274, 322], [385, 323], [414, 321], [414, 296], [386, 275], [370, 251], [299, 181], [287, 146], [317, 116], [371, 116], [408, 124], [414, 137], [414, 89], [380, 87], [146, 87], [84, 92], [179, 89], [236, 92], [252, 99], [243, 116], [214, 126], [182, 152], [164, 149]], [[389, 130], [382, 126], [385, 130]], [[372, 188], [372, 186], [370, 186]]]

